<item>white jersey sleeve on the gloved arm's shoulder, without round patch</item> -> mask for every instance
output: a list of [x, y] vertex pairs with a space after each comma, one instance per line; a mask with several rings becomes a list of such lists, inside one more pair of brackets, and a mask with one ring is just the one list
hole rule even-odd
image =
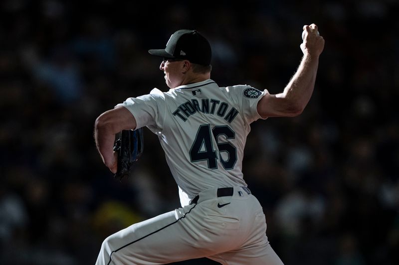
[[144, 126], [162, 130], [165, 113], [165, 96], [162, 93], [129, 97], [116, 106], [126, 107], [136, 119], [136, 128]]

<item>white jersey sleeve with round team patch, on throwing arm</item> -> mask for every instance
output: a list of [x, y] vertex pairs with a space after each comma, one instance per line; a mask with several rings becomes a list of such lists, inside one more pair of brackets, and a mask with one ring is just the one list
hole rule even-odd
[[232, 95], [236, 100], [239, 113], [241, 113], [248, 124], [258, 119], [266, 119], [259, 115], [257, 104], [265, 94], [269, 93], [267, 89], [261, 91], [250, 86], [234, 86], [229, 90], [231, 90]]

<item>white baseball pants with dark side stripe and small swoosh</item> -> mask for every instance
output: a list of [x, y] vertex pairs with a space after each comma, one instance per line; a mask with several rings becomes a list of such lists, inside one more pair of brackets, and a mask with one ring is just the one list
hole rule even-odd
[[196, 203], [109, 236], [96, 265], [156, 265], [202, 257], [222, 265], [282, 265], [267, 240], [258, 200], [248, 189], [230, 189], [231, 195], [204, 190]]

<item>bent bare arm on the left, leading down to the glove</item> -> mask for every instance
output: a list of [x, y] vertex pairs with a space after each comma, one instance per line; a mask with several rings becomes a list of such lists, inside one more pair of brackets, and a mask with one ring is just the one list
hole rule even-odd
[[122, 130], [136, 129], [136, 119], [125, 107], [118, 106], [102, 113], [94, 124], [94, 140], [101, 159], [112, 173], [117, 170], [117, 157], [114, 153], [115, 134]]

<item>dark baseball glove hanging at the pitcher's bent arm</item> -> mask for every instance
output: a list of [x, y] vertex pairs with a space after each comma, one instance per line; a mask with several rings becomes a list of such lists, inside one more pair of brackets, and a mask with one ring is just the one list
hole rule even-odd
[[115, 140], [114, 151], [118, 153], [118, 168], [114, 177], [121, 180], [129, 177], [144, 148], [143, 129], [122, 130]]

